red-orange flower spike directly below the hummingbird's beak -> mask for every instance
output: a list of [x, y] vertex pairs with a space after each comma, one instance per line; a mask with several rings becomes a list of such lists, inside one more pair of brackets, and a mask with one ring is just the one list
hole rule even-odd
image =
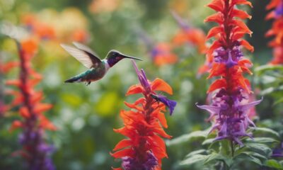
[[152, 94], [156, 94], [156, 91], [173, 92], [162, 79], [150, 82], [143, 70], [137, 70], [137, 74], [141, 84], [131, 86], [126, 95], [143, 94], [144, 97], [134, 103], [125, 102], [131, 110], [120, 112], [125, 127], [115, 129], [115, 132], [128, 138], [120, 141], [111, 155], [122, 159], [123, 169], [161, 169], [161, 159], [168, 157], [161, 137], [171, 136], [163, 130], [168, 128], [163, 113], [165, 105], [157, 102]]

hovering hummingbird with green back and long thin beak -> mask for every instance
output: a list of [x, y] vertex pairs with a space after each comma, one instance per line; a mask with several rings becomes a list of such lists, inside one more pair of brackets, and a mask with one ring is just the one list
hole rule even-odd
[[90, 47], [79, 42], [73, 42], [73, 44], [75, 47], [64, 44], [61, 44], [61, 46], [64, 50], [69, 52], [71, 56], [75, 57], [76, 60], [88, 68], [88, 70], [75, 77], [67, 79], [64, 81], [65, 83], [86, 82], [86, 85], [88, 86], [91, 84], [91, 81], [102, 79], [111, 67], [124, 58], [141, 60], [136, 57], [124, 55], [117, 50], [110, 50], [106, 57], [103, 60], [100, 60], [96, 52], [93, 52]]

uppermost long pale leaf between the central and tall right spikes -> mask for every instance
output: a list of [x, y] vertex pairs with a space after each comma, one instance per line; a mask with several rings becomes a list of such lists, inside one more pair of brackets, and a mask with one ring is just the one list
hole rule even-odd
[[190, 142], [191, 140], [194, 140], [196, 138], [205, 138], [207, 137], [207, 130], [202, 130], [202, 131], [195, 131], [195, 132], [191, 132], [189, 134], [185, 134], [185, 135], [181, 135], [180, 137], [176, 137], [173, 140], [168, 140], [166, 142], [167, 146], [171, 146], [171, 145], [178, 145], [180, 143], [183, 142]]

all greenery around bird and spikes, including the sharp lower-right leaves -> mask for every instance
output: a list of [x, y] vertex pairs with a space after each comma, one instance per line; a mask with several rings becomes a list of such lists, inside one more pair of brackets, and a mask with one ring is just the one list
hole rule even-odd
[[[13, 154], [21, 149], [18, 143], [21, 130], [9, 132], [13, 121], [21, 119], [20, 106], [10, 110], [2, 107], [13, 101], [13, 96], [6, 95], [10, 87], [4, 83], [18, 78], [19, 72], [15, 63], [17, 47], [4, 34], [15, 33], [12, 30], [19, 27], [23, 31], [13, 35], [38, 42], [38, 52], [31, 64], [43, 77], [35, 90], [42, 89], [45, 103], [53, 106], [45, 115], [57, 131], [46, 132], [45, 139], [56, 148], [52, 159], [57, 169], [120, 166], [109, 153], [123, 137], [112, 128], [122, 127], [119, 113], [126, 109], [123, 101], [134, 103], [137, 99], [125, 97], [129, 86], [137, 84], [129, 60], [123, 60], [103, 79], [89, 86], [64, 84], [64, 80], [85, 71], [59, 46], [74, 40], [89, 45], [102, 57], [111, 49], [141, 57], [144, 61], [138, 65], [144, 68], [148, 79], [159, 77], [171, 84], [174, 91], [171, 99], [178, 101], [178, 105], [173, 116], [167, 118], [166, 132], [173, 137], [165, 140], [168, 159], [162, 160], [162, 169], [282, 169], [282, 157], [272, 154], [275, 150], [279, 154], [282, 151], [283, 68], [264, 65], [272, 60], [272, 50], [267, 47], [269, 40], [264, 36], [274, 21], [264, 21], [265, 5], [270, 1], [252, 2], [253, 8], [239, 6], [253, 16], [246, 23], [253, 30], [253, 37], [245, 38], [255, 47], [252, 56], [246, 55], [255, 69], [251, 70], [253, 77], [246, 78], [250, 80], [253, 97], [263, 96], [263, 101], [254, 110], [256, 128], [248, 131], [253, 132], [253, 138], [241, 137], [244, 146], [235, 144], [232, 156], [228, 140], [214, 141], [216, 133], [208, 135], [210, 124], [204, 121], [208, 116], [195, 106], [196, 102], [206, 103], [209, 88], [205, 73], [209, 69], [208, 61], [202, 52], [210, 42], [204, 44], [203, 35], [215, 25], [203, 23], [212, 14], [212, 10], [204, 7], [207, 1], [0, 1], [0, 114], [4, 113], [0, 116], [0, 169], [24, 169], [24, 159]], [[171, 11], [193, 29], [187, 32]], [[30, 18], [36, 22], [30, 23]], [[154, 42], [150, 47], [141, 40], [137, 28], [144, 30]], [[168, 60], [153, 60], [155, 48], [161, 49], [155, 55], [160, 59], [167, 56]], [[160, 55], [163, 52], [166, 55]], [[200, 67], [202, 64], [204, 67]]]

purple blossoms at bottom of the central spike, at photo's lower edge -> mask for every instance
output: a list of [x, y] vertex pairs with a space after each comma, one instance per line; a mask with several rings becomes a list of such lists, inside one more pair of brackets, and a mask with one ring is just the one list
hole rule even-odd
[[147, 152], [144, 160], [137, 160], [131, 157], [122, 159], [122, 168], [124, 170], [154, 170], [158, 166], [158, 160], [152, 152]]

